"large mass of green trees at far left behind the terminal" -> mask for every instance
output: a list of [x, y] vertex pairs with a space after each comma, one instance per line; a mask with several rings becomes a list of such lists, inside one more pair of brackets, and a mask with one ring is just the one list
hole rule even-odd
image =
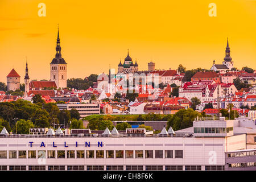
[[18, 130], [18, 134], [24, 132], [28, 134], [30, 127], [51, 127], [53, 124], [68, 126], [69, 121], [74, 121], [72, 119], [80, 119], [76, 109], [59, 110], [56, 103], [46, 103], [40, 95], [35, 95], [32, 102], [24, 100], [1, 102], [0, 129], [4, 126], [7, 131], [16, 133]]

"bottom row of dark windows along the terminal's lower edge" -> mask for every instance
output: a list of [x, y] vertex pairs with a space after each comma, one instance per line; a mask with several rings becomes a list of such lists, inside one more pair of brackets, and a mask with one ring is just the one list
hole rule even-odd
[[[230, 164], [231, 165], [231, 164]], [[245, 167], [243, 166], [239, 167]], [[248, 165], [248, 164], [247, 164]], [[254, 163], [254, 166], [256, 163]], [[250, 164], [253, 166], [253, 164]], [[238, 167], [237, 164], [236, 166]], [[48, 171], [65, 171], [65, 166], [47, 166]], [[104, 171], [104, 166], [67, 166], [68, 171]], [[165, 166], [166, 171], [183, 171], [183, 166]], [[201, 171], [201, 166], [185, 166], [185, 171]], [[205, 166], [206, 171], [223, 171], [224, 166]], [[26, 171], [26, 166], [9, 166], [10, 171]], [[46, 166], [28, 166], [28, 171], [45, 171]], [[143, 171], [143, 166], [106, 166], [106, 171]], [[163, 171], [163, 166], [158, 165], [147, 165], [145, 166], [146, 171]], [[7, 166], [0, 166], [0, 171], [7, 171]]]

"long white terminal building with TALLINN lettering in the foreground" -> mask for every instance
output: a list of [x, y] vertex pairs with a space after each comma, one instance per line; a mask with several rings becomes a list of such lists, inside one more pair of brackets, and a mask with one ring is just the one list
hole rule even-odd
[[[31, 130], [32, 131], [32, 130]], [[34, 130], [33, 130], [34, 131]], [[225, 118], [196, 118], [187, 129], [153, 134], [145, 129], [126, 131], [0, 134], [1, 170], [256, 170], [256, 147], [247, 147], [247, 134]]]

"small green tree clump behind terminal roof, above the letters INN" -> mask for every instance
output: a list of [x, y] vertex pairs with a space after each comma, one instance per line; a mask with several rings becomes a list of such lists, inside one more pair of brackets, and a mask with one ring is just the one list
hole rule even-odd
[[91, 130], [105, 130], [108, 127], [112, 130], [114, 125], [110, 120], [91, 119], [88, 124], [88, 128]]

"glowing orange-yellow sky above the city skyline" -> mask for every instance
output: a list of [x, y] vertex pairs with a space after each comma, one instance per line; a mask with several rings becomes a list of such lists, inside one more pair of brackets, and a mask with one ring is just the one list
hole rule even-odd
[[[46, 17], [38, 4], [46, 4]], [[208, 15], [216, 3], [217, 17]], [[31, 80], [49, 79], [57, 23], [68, 78], [117, 69], [127, 55], [139, 70], [210, 69], [225, 57], [229, 37], [234, 67], [256, 69], [256, 1], [0, 1], [0, 81], [14, 68], [22, 77], [28, 57]]]

